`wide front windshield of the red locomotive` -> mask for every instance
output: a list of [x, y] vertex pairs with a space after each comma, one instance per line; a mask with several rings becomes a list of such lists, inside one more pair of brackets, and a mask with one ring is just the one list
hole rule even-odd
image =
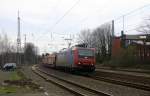
[[79, 54], [79, 56], [93, 57], [94, 51], [93, 50], [87, 50], [87, 49], [79, 49], [78, 54]]

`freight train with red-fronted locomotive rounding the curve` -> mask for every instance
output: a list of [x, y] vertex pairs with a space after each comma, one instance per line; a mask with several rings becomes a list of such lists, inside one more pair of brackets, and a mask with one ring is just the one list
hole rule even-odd
[[55, 54], [42, 56], [42, 64], [53, 68], [93, 72], [95, 48], [72, 47]]

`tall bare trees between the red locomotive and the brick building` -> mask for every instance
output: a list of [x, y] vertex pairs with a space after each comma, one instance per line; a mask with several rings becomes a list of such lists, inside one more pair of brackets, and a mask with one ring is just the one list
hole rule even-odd
[[99, 61], [103, 61], [106, 57], [111, 56], [111, 24], [101, 25], [92, 32], [89, 29], [83, 30], [78, 38], [78, 43], [86, 43], [89, 47], [96, 48], [96, 55]]

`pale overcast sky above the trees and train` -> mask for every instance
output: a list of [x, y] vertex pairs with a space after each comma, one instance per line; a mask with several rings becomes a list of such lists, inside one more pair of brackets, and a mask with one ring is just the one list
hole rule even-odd
[[[27, 42], [35, 43], [40, 53], [58, 51], [67, 46], [64, 38], [69, 38], [70, 34], [75, 38], [83, 29], [94, 29], [148, 4], [150, 0], [0, 0], [0, 32], [7, 33], [10, 40], [16, 42], [19, 10], [22, 46], [26, 34]], [[60, 20], [72, 6], [73, 9]], [[149, 9], [147, 7], [135, 14], [137, 17], [142, 17], [141, 14], [149, 15]], [[135, 16], [127, 18], [128, 22], [135, 25], [137, 19], [132, 19]], [[60, 22], [56, 24], [58, 20]], [[121, 26], [121, 23], [118, 25]]]

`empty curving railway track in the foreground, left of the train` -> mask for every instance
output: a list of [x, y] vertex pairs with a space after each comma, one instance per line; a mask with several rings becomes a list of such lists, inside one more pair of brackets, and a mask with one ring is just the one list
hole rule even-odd
[[37, 67], [32, 67], [32, 70], [48, 82], [52, 82], [77, 96], [111, 96], [99, 90], [88, 88], [77, 83], [57, 77], [55, 74], [47, 73]]

